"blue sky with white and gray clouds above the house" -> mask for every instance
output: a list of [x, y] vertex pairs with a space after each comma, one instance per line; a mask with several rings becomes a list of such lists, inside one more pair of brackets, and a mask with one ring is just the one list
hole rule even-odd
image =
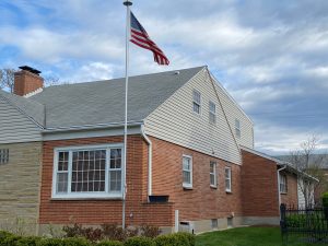
[[[121, 1], [1, 0], [0, 67], [84, 82], [124, 77]], [[171, 66], [131, 45], [131, 73], [208, 65], [255, 122], [256, 149], [289, 152], [309, 136], [328, 149], [328, 1], [134, 1]]]

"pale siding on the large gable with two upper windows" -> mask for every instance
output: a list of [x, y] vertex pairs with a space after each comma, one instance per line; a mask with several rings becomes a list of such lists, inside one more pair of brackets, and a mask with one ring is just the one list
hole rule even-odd
[[[192, 110], [192, 91], [201, 94], [200, 115]], [[216, 124], [210, 124], [209, 102], [216, 107]], [[212, 82], [203, 69], [145, 119], [145, 132], [201, 153], [241, 164], [241, 153]]]

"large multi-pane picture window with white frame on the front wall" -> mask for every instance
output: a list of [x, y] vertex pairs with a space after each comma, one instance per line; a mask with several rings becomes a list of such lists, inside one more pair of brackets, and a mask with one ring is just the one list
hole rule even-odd
[[121, 198], [120, 144], [55, 150], [52, 198]]

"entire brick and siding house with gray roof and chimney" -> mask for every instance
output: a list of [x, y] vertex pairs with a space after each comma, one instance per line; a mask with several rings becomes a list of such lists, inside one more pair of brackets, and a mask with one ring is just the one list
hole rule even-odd
[[[43, 87], [21, 68], [16, 95], [0, 92], [0, 224], [121, 224], [125, 80]], [[297, 203], [295, 173], [254, 150], [253, 121], [207, 67], [131, 77], [128, 102], [127, 225], [278, 224]]]

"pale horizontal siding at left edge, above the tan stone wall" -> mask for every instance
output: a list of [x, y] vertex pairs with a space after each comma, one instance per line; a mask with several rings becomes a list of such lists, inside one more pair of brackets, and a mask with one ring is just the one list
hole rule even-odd
[[39, 128], [0, 97], [0, 143], [40, 141]]

